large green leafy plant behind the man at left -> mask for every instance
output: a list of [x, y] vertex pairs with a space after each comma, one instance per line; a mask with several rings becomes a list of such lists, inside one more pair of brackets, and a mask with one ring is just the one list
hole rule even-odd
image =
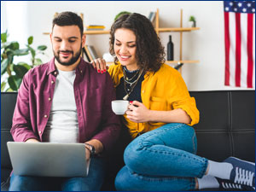
[[[1, 91], [18, 90], [26, 72], [32, 67], [42, 64], [38, 54], [44, 55], [47, 46], [40, 45], [37, 49], [32, 48], [33, 37], [27, 38], [26, 49], [20, 49], [17, 41], [8, 42], [8, 32], [1, 33]], [[24, 61], [14, 63], [14, 58], [22, 55], [31, 55], [31, 63]], [[3, 75], [7, 76], [3, 79]]]

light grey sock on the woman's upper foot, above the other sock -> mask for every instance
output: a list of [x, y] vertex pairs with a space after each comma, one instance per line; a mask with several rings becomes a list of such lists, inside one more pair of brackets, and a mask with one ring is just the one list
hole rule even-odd
[[207, 175], [213, 177], [219, 177], [222, 179], [230, 179], [230, 173], [233, 169], [233, 166], [230, 163], [218, 163], [212, 160], [208, 160], [209, 171]]

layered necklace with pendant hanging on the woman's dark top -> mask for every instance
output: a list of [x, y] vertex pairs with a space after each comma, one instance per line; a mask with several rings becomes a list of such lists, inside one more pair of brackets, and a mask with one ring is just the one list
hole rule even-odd
[[[138, 80], [143, 74], [143, 69], [137, 70], [137, 73], [135, 73], [130, 79], [126, 75], [125, 67], [123, 67], [123, 73], [124, 73], [124, 84], [125, 84], [125, 93], [126, 93], [126, 96], [124, 96], [123, 99], [128, 100], [128, 97], [130, 96], [132, 90], [135, 88]], [[136, 76], [137, 76], [137, 79], [135, 78]]]

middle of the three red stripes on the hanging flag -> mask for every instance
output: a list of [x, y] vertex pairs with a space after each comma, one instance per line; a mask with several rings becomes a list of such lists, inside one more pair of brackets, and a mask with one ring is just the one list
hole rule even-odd
[[241, 80], [241, 18], [236, 13], [236, 86], [240, 87]]

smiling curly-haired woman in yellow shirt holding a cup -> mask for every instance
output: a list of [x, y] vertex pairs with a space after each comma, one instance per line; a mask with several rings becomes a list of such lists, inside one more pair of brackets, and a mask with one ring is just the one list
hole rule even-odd
[[[195, 99], [143, 15], [122, 15], [111, 27], [108, 73], [117, 98], [130, 101], [123, 123], [134, 140], [125, 148], [118, 190], [255, 189], [255, 164], [230, 157], [218, 163], [196, 155], [191, 127], [199, 122]], [[106, 70], [101, 59], [93, 61]], [[247, 172], [246, 174], [243, 172]]]

